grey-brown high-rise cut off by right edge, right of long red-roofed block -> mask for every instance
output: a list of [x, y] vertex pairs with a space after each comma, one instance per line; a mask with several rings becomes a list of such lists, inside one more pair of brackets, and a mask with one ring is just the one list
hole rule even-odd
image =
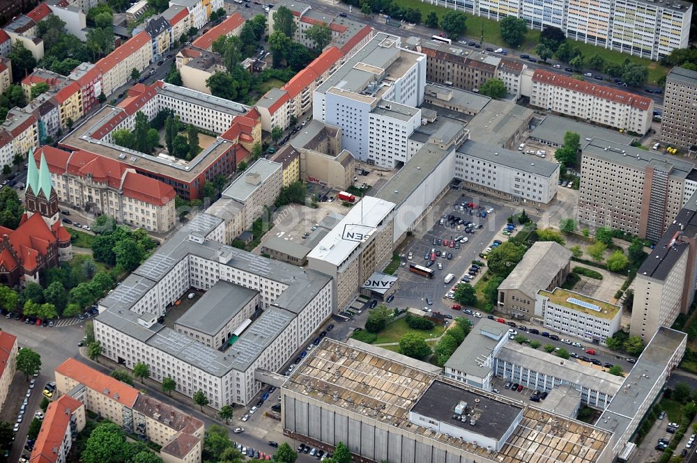
[[697, 72], [673, 68], [666, 77], [661, 141], [680, 148], [697, 145]]

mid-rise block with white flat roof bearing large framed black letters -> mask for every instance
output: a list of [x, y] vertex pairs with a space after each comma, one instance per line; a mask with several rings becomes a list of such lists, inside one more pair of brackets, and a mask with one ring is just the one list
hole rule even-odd
[[394, 203], [364, 196], [307, 255], [309, 269], [332, 278], [337, 311], [390, 260], [394, 208]]

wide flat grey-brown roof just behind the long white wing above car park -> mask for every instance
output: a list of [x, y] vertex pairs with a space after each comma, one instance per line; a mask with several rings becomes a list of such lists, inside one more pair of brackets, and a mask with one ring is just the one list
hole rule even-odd
[[467, 125], [470, 138], [482, 143], [504, 146], [519, 127], [533, 117], [533, 111], [510, 101], [491, 100]]

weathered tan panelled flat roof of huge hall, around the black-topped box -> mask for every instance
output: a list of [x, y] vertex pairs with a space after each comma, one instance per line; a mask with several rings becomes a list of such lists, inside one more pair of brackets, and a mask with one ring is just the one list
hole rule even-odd
[[[592, 425], [451, 382], [417, 366], [395, 361], [389, 351], [381, 355], [376, 349], [369, 352], [328, 338], [300, 363], [283, 388], [345, 409], [355, 416], [366, 416], [399, 427], [417, 434], [416, 439], [434, 439], [472, 455], [505, 463], [599, 462], [611, 438], [610, 432]], [[522, 421], [496, 454], [488, 453], [487, 448], [473, 442], [411, 423], [409, 411], [413, 407], [427, 408], [429, 401], [438, 399], [435, 393], [439, 391], [447, 391], [447, 397], [460, 400], [470, 398], [474, 402], [479, 399], [487, 409], [491, 405], [497, 413], [492, 412], [492, 415], [497, 417], [501, 411], [522, 409]], [[425, 402], [420, 404], [422, 400]], [[447, 409], [445, 405], [442, 408]], [[507, 416], [500, 418], [509, 419]], [[486, 418], [482, 420], [486, 421]], [[498, 424], [490, 423], [489, 426], [491, 432], [497, 432]]]

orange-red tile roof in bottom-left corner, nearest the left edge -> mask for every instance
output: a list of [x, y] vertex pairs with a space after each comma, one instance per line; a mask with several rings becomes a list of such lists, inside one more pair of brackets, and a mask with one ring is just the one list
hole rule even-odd
[[63, 438], [70, 427], [70, 417], [79, 407], [82, 407], [82, 402], [70, 395], [63, 395], [59, 400], [49, 404], [29, 462], [53, 463], [58, 460], [56, 449], [63, 446]]

